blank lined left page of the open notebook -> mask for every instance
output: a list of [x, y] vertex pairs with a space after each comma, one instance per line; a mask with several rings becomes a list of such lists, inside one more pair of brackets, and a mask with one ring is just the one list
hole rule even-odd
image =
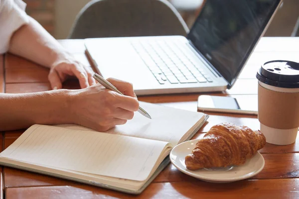
[[166, 145], [166, 142], [155, 140], [33, 125], [1, 156], [43, 166], [144, 181]]

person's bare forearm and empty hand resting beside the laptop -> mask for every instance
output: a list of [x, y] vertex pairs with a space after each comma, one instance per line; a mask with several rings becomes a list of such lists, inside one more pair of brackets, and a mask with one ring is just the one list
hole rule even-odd
[[28, 23], [15, 30], [11, 36], [8, 51], [50, 68], [48, 79], [53, 90], [61, 89], [62, 83], [70, 76], [79, 80], [82, 89], [95, 84], [92, 70], [75, 60], [57, 40], [29, 16]]

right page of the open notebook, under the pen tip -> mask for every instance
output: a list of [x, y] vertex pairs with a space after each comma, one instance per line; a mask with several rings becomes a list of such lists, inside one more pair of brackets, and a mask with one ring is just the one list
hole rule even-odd
[[146, 118], [139, 112], [135, 112], [134, 118], [124, 125], [116, 126], [108, 133], [141, 137], [146, 139], [161, 140], [177, 145], [180, 138], [188, 130], [203, 119], [204, 113], [187, 111], [152, 103], [140, 102], [151, 116]]

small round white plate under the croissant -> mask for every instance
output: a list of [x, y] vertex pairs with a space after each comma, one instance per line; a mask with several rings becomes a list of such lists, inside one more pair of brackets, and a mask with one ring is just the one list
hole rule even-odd
[[213, 183], [229, 183], [244, 180], [257, 175], [262, 171], [265, 165], [263, 156], [257, 152], [251, 159], [247, 160], [244, 165], [234, 166], [228, 171], [208, 171], [199, 169], [191, 171], [186, 168], [185, 157], [195, 148], [197, 140], [190, 140], [175, 146], [170, 152], [171, 163], [181, 172], [198, 178], [203, 181]]

